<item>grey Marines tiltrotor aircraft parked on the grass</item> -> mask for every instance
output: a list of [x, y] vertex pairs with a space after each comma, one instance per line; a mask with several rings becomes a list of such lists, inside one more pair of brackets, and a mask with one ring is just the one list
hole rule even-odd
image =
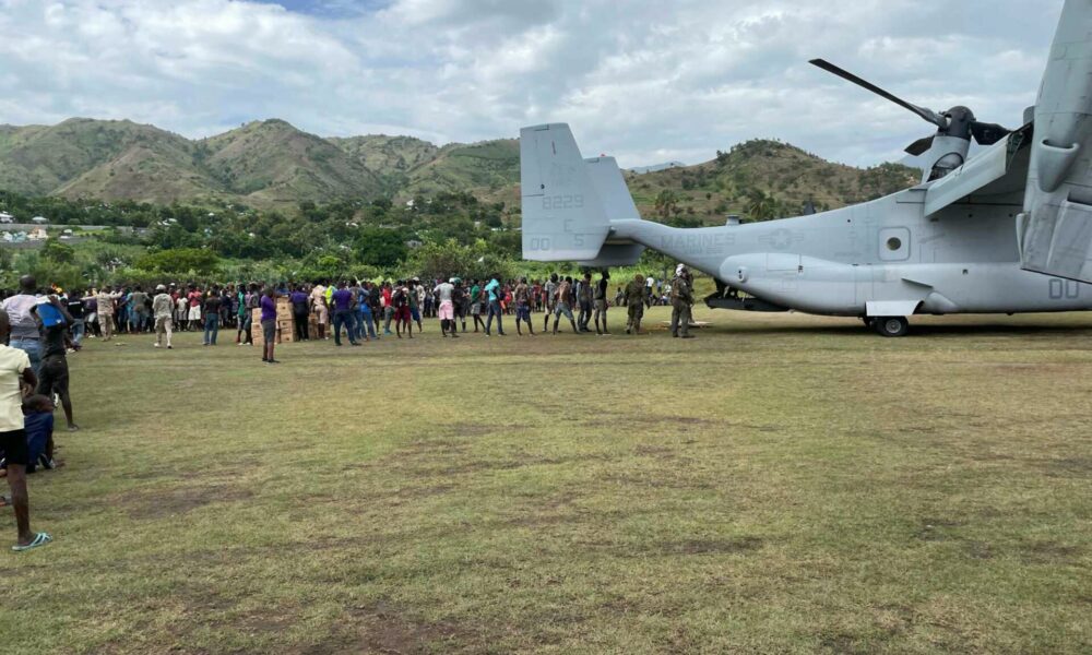
[[[927, 164], [916, 187], [796, 218], [642, 221], [614, 158], [584, 159], [567, 124], [524, 128], [523, 257], [602, 267], [652, 248], [717, 281], [710, 307], [859, 317], [885, 336], [906, 334], [913, 314], [1092, 309], [1090, 34], [1092, 2], [1067, 0], [1036, 105], [1011, 131], [812, 61], [937, 132], [907, 148]], [[984, 148], [969, 158], [971, 139]]]

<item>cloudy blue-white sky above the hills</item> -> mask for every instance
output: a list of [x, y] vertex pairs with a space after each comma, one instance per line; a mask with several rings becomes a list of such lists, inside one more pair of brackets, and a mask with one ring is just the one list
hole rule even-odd
[[568, 122], [624, 167], [780, 139], [871, 166], [928, 123], [809, 66], [1019, 127], [1063, 0], [0, 0], [0, 124], [189, 138], [281, 118], [434, 143]]

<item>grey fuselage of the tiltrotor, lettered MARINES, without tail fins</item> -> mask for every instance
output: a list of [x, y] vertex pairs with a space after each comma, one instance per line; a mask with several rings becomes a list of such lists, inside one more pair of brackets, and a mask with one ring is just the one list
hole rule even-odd
[[926, 191], [737, 226], [612, 221], [607, 242], [642, 243], [767, 302], [817, 314], [1092, 309], [1092, 285], [1020, 269], [1019, 193], [925, 215]]

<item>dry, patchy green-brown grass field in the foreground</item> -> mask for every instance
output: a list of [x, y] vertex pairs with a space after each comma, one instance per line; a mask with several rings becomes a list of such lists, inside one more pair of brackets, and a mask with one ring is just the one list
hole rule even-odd
[[1092, 650], [1092, 314], [698, 317], [93, 342], [3, 653]]

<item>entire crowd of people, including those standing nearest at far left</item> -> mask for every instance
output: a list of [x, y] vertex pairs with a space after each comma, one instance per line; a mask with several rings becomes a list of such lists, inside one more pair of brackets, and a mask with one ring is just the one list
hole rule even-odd
[[[313, 337], [359, 346], [383, 337], [413, 338], [423, 319], [436, 318], [444, 338], [460, 338], [470, 329], [486, 336], [505, 336], [506, 317], [514, 317], [515, 331], [535, 335], [533, 314], [542, 313], [543, 332], [557, 334], [561, 320], [575, 334], [612, 334], [607, 324], [609, 300], [607, 271], [593, 279], [553, 274], [544, 279], [503, 281], [451, 277], [428, 283], [414, 277], [394, 282], [318, 281], [273, 285], [159, 284], [86, 290], [39, 288], [32, 276], [20, 279], [16, 293], [3, 293], [0, 311], [0, 476], [7, 477], [10, 497], [0, 507], [15, 512], [17, 540], [12, 548], [29, 550], [52, 540], [29, 525], [26, 474], [56, 468], [54, 412], [60, 404], [69, 431], [73, 419], [69, 393], [68, 355], [78, 353], [86, 338], [109, 342], [118, 334], [154, 334], [156, 348], [173, 349], [174, 332], [201, 332], [202, 344], [214, 347], [221, 329], [235, 332], [235, 343], [254, 344], [253, 320], [260, 322], [262, 361], [275, 358], [278, 299], [290, 307], [295, 341]], [[679, 265], [667, 284], [637, 275], [617, 287], [613, 305], [626, 307], [627, 334], [641, 334], [644, 310], [670, 302], [673, 336], [691, 338], [692, 278]], [[553, 324], [550, 319], [553, 318]], [[317, 331], [312, 331], [314, 323]], [[393, 330], [392, 330], [393, 325]]]

